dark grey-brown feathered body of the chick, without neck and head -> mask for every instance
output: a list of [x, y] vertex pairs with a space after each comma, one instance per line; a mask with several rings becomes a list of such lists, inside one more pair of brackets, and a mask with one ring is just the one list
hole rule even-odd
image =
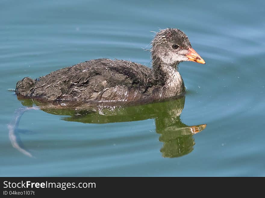
[[[47, 101], [148, 102], [162, 100], [164, 81], [151, 68], [123, 60], [96, 59], [17, 82], [17, 95]], [[159, 80], [158, 80], [159, 79]]]

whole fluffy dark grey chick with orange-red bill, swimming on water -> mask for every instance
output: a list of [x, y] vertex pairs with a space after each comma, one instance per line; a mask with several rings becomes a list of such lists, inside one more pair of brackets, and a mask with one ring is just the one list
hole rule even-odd
[[51, 104], [135, 104], [163, 101], [185, 94], [178, 71], [182, 61], [205, 61], [188, 36], [176, 28], [160, 30], [151, 41], [152, 68], [132, 61], [100, 58], [17, 82], [17, 97]]

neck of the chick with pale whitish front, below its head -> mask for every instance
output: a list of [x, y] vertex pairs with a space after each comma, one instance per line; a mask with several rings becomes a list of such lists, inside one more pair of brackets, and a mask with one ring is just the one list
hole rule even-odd
[[185, 91], [184, 82], [177, 71], [177, 65], [169, 65], [163, 62], [159, 57], [152, 56], [152, 68], [154, 75], [160, 84], [164, 84], [164, 89], [170, 95], [179, 95]]

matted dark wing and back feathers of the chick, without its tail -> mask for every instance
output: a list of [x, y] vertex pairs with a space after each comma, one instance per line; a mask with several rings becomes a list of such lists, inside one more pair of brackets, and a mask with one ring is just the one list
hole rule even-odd
[[145, 90], [154, 84], [150, 68], [130, 61], [95, 59], [63, 68], [36, 79], [30, 88], [31, 97], [85, 100], [106, 88], [139, 87]]

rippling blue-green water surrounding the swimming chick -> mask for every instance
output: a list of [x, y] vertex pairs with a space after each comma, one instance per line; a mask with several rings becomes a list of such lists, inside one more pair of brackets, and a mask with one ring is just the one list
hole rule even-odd
[[[27, 111], [19, 128], [31, 132], [16, 135], [33, 157], [12, 146], [18, 80], [95, 58], [150, 66], [142, 48], [167, 27], [206, 61], [180, 64], [185, 98], [81, 116]], [[2, 0], [0, 176], [265, 176], [264, 32], [261, 0]]]

